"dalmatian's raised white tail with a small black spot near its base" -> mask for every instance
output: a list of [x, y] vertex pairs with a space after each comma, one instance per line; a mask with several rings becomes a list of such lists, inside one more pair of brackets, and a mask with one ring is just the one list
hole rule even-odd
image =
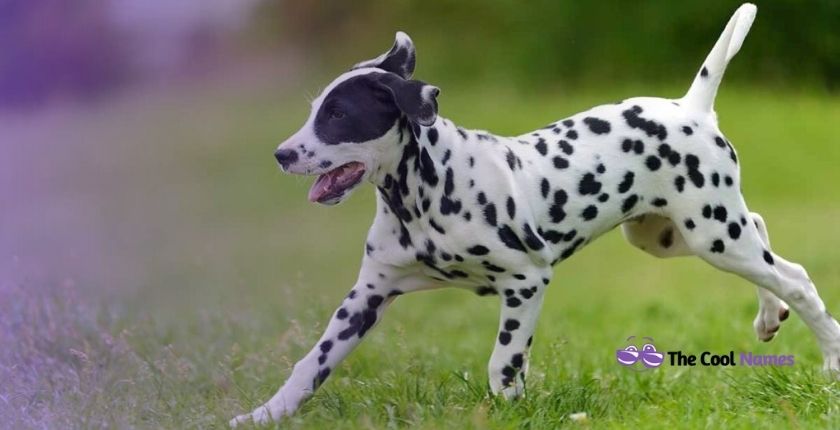
[[688, 89], [683, 104], [704, 112], [710, 112], [715, 102], [718, 86], [723, 79], [723, 72], [729, 60], [741, 49], [744, 38], [750, 31], [750, 26], [755, 19], [756, 7], [752, 3], [744, 3], [735, 13], [726, 28], [723, 29], [703, 66], [694, 78], [691, 88]]

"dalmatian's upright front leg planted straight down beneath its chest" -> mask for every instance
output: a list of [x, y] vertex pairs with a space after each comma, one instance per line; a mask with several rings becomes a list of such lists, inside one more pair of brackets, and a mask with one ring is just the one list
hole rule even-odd
[[[538, 278], [539, 279], [539, 278]], [[547, 281], [548, 278], [542, 278]], [[515, 280], [499, 293], [502, 299], [499, 335], [490, 357], [490, 390], [505, 398], [525, 392], [528, 350], [531, 347], [547, 282]]]

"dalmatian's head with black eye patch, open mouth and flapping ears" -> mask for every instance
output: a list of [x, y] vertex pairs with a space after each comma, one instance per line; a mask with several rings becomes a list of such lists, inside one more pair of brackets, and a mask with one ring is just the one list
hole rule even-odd
[[341, 202], [380, 164], [399, 151], [405, 120], [432, 125], [440, 90], [411, 80], [414, 44], [398, 32], [394, 46], [373, 60], [353, 66], [312, 102], [303, 127], [274, 153], [289, 173], [319, 175], [309, 200]]

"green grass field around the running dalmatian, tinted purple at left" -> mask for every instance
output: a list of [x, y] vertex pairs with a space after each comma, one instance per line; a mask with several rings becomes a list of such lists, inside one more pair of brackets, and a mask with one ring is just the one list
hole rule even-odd
[[[683, 91], [438, 84], [443, 116], [502, 134]], [[373, 213], [371, 187], [317, 207], [311, 179], [276, 169], [271, 153], [306, 109], [298, 89], [269, 85], [6, 124], [46, 150], [21, 154], [43, 186], [3, 227], [19, 241], [0, 285], [0, 426], [224, 428], [274, 393], [352, 286]], [[840, 312], [840, 98], [724, 84], [717, 111], [774, 250], [808, 268]], [[555, 272], [524, 399], [486, 394], [497, 299], [442, 290], [399, 298], [280, 427], [840, 426], [840, 384], [820, 373], [814, 338], [794, 315], [758, 342], [745, 281], [692, 258], [656, 260], [615, 231]], [[793, 354], [795, 365], [633, 372], [614, 358], [630, 335], [661, 350]], [[569, 419], [578, 412], [587, 419]]]

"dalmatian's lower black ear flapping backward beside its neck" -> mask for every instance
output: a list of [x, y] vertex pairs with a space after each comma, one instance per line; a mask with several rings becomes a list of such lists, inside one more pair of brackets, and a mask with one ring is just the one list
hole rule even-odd
[[378, 79], [409, 121], [423, 126], [435, 123], [440, 88], [422, 81], [403, 79], [392, 73], [384, 73]]

